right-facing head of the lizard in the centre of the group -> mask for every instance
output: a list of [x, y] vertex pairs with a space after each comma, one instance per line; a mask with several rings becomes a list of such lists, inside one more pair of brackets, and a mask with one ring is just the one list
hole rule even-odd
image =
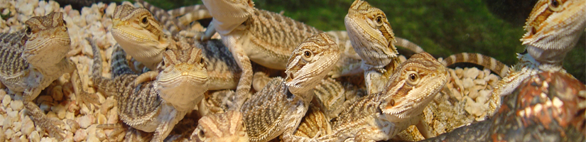
[[305, 39], [293, 50], [287, 62], [285, 82], [289, 91], [295, 95], [310, 91], [338, 60], [340, 49], [327, 34], [320, 33]]

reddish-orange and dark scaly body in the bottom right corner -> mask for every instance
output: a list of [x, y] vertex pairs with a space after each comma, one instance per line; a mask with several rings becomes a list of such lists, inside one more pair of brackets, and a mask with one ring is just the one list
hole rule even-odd
[[585, 141], [586, 87], [565, 72], [523, 81], [491, 119], [424, 141]]

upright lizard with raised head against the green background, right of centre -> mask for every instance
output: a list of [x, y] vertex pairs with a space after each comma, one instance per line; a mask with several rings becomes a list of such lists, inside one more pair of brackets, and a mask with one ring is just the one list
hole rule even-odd
[[362, 58], [368, 94], [380, 92], [400, 62], [386, 15], [366, 1], [356, 0], [348, 9], [344, 25], [352, 47]]

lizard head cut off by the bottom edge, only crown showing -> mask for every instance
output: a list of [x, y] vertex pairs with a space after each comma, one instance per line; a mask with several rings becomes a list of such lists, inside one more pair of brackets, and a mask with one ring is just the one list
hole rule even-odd
[[191, 135], [193, 141], [249, 141], [240, 111], [203, 116]]

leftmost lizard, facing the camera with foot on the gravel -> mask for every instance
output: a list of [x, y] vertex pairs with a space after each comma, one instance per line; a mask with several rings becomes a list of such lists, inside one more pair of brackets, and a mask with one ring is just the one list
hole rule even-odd
[[70, 36], [63, 13], [28, 19], [26, 28], [16, 33], [0, 33], [0, 82], [11, 92], [23, 92], [25, 108], [37, 126], [50, 136], [63, 140], [65, 133], [33, 103], [40, 91], [75, 65], [65, 58], [70, 50]]

